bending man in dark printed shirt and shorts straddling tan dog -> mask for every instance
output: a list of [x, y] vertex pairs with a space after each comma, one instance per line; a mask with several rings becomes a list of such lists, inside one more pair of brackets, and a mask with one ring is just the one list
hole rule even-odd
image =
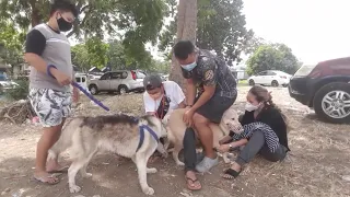
[[205, 155], [200, 158], [202, 160], [196, 164], [195, 147], [189, 144], [194, 141], [195, 134], [192, 129], [187, 129], [184, 138], [187, 185], [198, 189], [201, 186], [194, 171], [207, 172], [219, 163], [213, 151], [213, 135], [209, 123], [219, 124], [223, 113], [235, 102], [236, 80], [222, 59], [209, 50], [196, 48], [189, 40], [178, 42], [174, 46], [174, 55], [187, 80], [188, 111], [184, 115], [184, 121], [196, 128], [205, 150]]

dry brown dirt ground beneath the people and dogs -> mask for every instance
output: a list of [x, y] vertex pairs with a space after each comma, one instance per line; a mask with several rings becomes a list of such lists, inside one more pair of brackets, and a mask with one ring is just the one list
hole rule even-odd
[[[237, 109], [243, 112], [248, 86], [240, 88]], [[288, 94], [284, 88], [269, 88], [275, 103], [289, 117], [293, 129], [289, 132], [291, 152], [285, 161], [270, 163], [256, 158], [235, 181], [220, 178], [225, 165], [221, 161], [210, 174], [200, 175], [202, 190], [185, 189], [182, 167], [173, 159], [159, 160], [151, 166], [159, 172], [148, 176], [149, 185], [158, 197], [342, 197], [350, 196], [350, 126], [319, 121], [314, 113]], [[98, 99], [113, 113], [140, 115], [142, 94], [100, 95]], [[105, 114], [82, 96], [75, 115]], [[80, 194], [70, 194], [67, 174], [55, 186], [31, 181], [34, 170], [35, 147], [40, 127], [33, 124], [11, 125], [0, 123], [0, 193], [11, 197], [137, 197], [144, 196], [139, 187], [136, 166], [130, 160], [113, 154], [95, 157], [88, 170], [91, 179], [78, 175]], [[97, 195], [97, 196], [96, 196]]]

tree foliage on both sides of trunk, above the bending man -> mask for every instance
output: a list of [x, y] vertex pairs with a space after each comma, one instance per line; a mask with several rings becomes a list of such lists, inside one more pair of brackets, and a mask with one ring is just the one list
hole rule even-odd
[[[167, 0], [173, 10], [176, 1]], [[198, 0], [197, 43], [200, 48], [214, 50], [226, 61], [241, 61], [247, 42], [254, 36], [252, 30], [245, 27], [245, 15], [242, 13], [242, 0]], [[176, 19], [166, 26], [160, 36], [159, 48], [168, 55], [174, 45]]]

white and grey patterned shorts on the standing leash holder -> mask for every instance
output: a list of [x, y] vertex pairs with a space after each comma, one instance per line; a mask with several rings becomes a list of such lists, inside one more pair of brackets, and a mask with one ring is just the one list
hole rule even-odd
[[62, 119], [71, 114], [71, 92], [31, 89], [28, 99], [44, 127], [60, 125]]

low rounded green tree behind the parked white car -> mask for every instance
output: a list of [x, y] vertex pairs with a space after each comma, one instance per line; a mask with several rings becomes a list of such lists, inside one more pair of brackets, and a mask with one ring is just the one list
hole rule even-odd
[[261, 45], [247, 60], [248, 74], [264, 70], [281, 70], [294, 74], [301, 62], [293, 55], [292, 49], [284, 44]]

